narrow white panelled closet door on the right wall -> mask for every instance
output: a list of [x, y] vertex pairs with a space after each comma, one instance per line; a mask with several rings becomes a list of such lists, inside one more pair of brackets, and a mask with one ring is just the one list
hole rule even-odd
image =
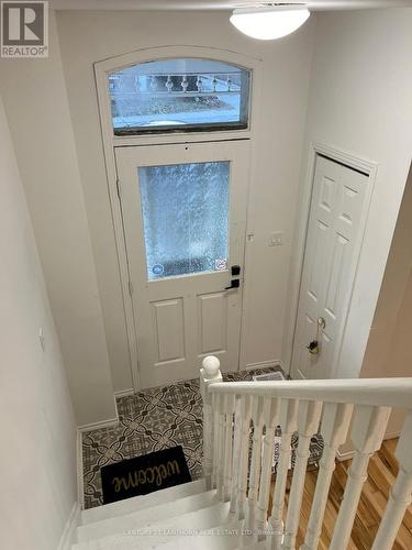
[[[367, 175], [318, 155], [293, 344], [294, 376], [333, 375], [354, 283], [367, 186]], [[319, 345], [312, 354], [308, 345], [313, 341]]]

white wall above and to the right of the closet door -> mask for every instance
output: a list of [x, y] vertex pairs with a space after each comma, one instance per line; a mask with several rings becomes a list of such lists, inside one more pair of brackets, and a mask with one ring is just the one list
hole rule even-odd
[[[361, 369], [411, 162], [412, 9], [321, 13], [315, 35], [304, 158], [319, 141], [379, 164], [336, 373], [350, 377]], [[302, 185], [305, 172], [303, 163]]]

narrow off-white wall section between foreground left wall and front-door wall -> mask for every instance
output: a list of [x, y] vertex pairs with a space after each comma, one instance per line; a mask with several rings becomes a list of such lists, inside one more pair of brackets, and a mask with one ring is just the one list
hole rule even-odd
[[47, 59], [0, 59], [10, 130], [79, 425], [115, 417], [56, 25]]

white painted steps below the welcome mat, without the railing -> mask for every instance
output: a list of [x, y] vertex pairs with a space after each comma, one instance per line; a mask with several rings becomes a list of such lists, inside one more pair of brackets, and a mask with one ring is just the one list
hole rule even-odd
[[[203, 480], [129, 498], [82, 513], [73, 550], [236, 549], [240, 521], [230, 514], [216, 491], [205, 491]], [[213, 537], [212, 537], [213, 535]]]

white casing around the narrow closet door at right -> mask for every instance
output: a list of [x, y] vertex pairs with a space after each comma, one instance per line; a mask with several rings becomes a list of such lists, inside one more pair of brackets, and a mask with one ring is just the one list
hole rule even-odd
[[353, 287], [355, 284], [358, 262], [360, 257], [360, 252], [364, 243], [365, 230], [367, 227], [367, 219], [369, 215], [369, 207], [371, 202], [371, 197], [375, 187], [376, 175], [378, 170], [378, 164], [361, 158], [359, 155], [355, 155], [353, 153], [344, 152], [338, 147], [332, 145], [325, 145], [319, 142], [311, 142], [309, 146], [309, 161], [307, 167], [307, 175], [303, 180], [303, 186], [301, 187], [301, 209], [298, 212], [298, 229], [297, 229], [297, 238], [296, 238], [296, 260], [292, 268], [292, 280], [291, 280], [291, 300], [290, 300], [290, 311], [292, 311], [289, 321], [287, 321], [286, 326], [286, 337], [283, 340], [283, 345], [286, 350], [286, 365], [288, 365], [288, 372], [292, 376], [297, 376], [298, 372], [294, 370], [293, 365], [293, 348], [294, 348], [294, 339], [297, 332], [297, 321], [298, 321], [298, 309], [299, 309], [299, 298], [300, 298], [300, 289], [303, 274], [303, 262], [304, 262], [304, 253], [307, 246], [307, 238], [308, 238], [308, 226], [309, 218], [311, 212], [311, 202], [312, 202], [312, 191], [313, 191], [313, 178], [314, 170], [316, 165], [318, 155], [323, 155], [331, 161], [335, 161], [339, 164], [343, 164], [352, 169], [361, 172], [368, 176], [368, 188], [365, 195], [365, 202], [363, 207], [363, 212], [360, 216], [359, 223], [359, 238], [355, 243], [354, 248], [354, 256], [353, 263], [350, 267], [350, 279], [353, 282], [349, 296], [346, 300], [346, 312], [344, 316], [344, 321], [342, 322], [342, 327], [338, 332], [338, 337], [336, 338], [336, 350], [334, 353], [334, 360], [331, 367], [331, 378], [335, 377], [335, 374], [339, 371], [339, 360], [342, 353], [342, 344], [344, 341], [344, 334], [346, 331], [346, 323], [348, 311], [350, 308], [352, 297], [353, 297]]

